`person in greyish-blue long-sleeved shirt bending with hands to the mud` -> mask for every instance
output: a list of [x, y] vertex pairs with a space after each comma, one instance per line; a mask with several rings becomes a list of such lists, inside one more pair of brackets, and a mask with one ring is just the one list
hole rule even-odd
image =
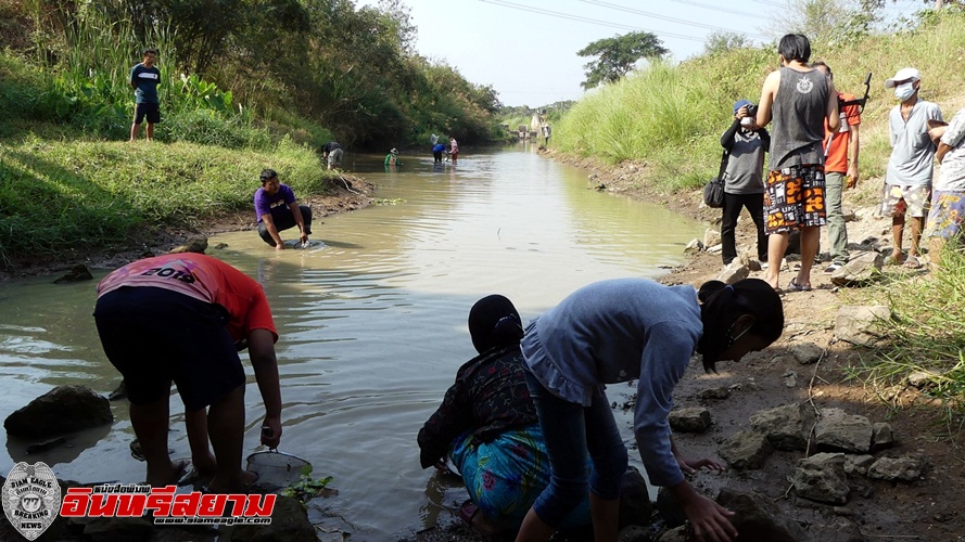
[[[689, 460], [677, 449], [666, 416], [690, 356], [706, 371], [740, 361], [780, 337], [784, 308], [766, 282], [710, 281], [664, 286], [643, 279], [602, 281], [577, 289], [526, 327], [521, 341], [526, 383], [546, 440], [553, 481], [526, 514], [517, 541], [545, 541], [580, 504], [587, 488], [594, 540], [615, 541], [626, 447], [605, 392], [637, 380], [634, 436], [653, 486], [670, 490], [698, 540], [737, 535], [733, 513], [697, 493], [684, 474], [714, 460]], [[589, 452], [593, 474], [586, 475]]]

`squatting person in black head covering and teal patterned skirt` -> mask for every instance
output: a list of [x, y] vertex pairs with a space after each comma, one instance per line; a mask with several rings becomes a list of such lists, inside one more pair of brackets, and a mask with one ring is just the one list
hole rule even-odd
[[[512, 302], [486, 296], [469, 311], [469, 333], [479, 356], [456, 372], [442, 405], [419, 430], [422, 468], [448, 473], [452, 460], [470, 501], [460, 516], [478, 532], [516, 531], [549, 483], [549, 462], [536, 410], [526, 388], [523, 328]], [[584, 455], [584, 469], [588, 472]], [[563, 527], [589, 524], [586, 499]]]

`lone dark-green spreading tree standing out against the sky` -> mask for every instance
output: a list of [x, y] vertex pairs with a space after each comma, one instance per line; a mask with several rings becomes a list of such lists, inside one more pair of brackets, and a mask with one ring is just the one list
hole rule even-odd
[[600, 83], [618, 81], [640, 59], [659, 59], [668, 52], [657, 36], [645, 31], [594, 41], [576, 52], [580, 56], [598, 57], [583, 66], [586, 68], [586, 80], [580, 85], [584, 89], [592, 89]]

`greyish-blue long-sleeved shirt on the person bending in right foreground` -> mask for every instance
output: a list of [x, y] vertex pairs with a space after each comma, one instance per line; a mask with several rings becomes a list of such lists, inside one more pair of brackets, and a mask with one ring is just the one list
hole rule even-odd
[[522, 339], [530, 371], [559, 398], [588, 406], [607, 384], [637, 382], [634, 435], [655, 486], [683, 481], [670, 449], [673, 389], [703, 333], [697, 292], [644, 279], [584, 286]]

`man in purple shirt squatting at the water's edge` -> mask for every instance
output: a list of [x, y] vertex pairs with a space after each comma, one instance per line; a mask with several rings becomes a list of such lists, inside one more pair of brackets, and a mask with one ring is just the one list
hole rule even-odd
[[302, 232], [299, 236], [302, 245], [308, 243], [312, 207], [299, 205], [295, 193], [278, 180], [274, 169], [262, 171], [262, 188], [255, 192], [255, 214], [258, 216], [258, 235], [276, 250], [284, 250], [280, 232], [295, 225]]

